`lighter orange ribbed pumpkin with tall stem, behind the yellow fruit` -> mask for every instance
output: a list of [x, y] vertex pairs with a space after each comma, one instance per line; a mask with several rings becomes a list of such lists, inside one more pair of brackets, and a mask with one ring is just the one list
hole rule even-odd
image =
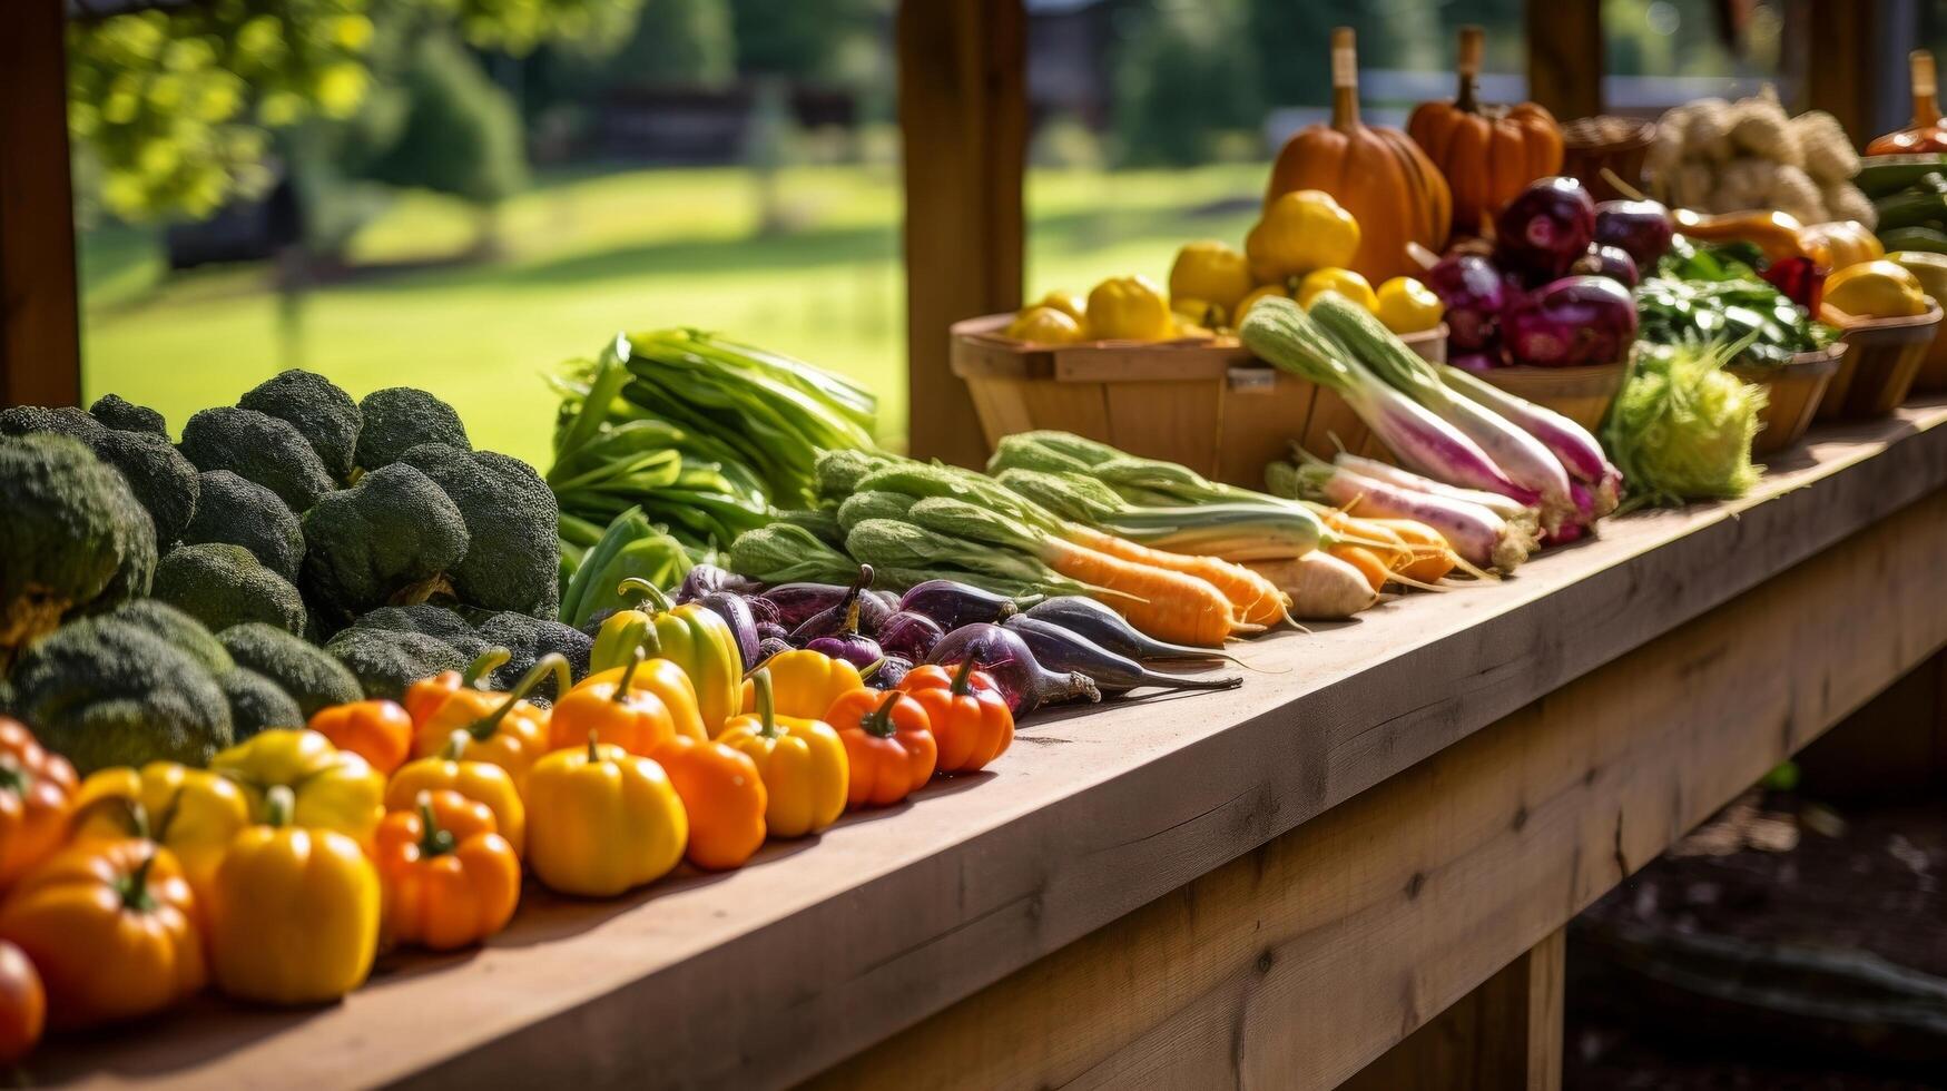
[[1452, 195], [1433, 160], [1406, 132], [1359, 121], [1351, 27], [1332, 31], [1332, 123], [1301, 129], [1277, 152], [1266, 207], [1295, 189], [1324, 189], [1359, 220], [1351, 269], [1375, 284], [1421, 271], [1406, 244], [1447, 245]]

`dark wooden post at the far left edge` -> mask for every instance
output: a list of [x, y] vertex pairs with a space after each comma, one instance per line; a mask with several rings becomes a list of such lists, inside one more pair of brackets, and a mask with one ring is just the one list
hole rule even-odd
[[62, 18], [19, 0], [0, 33], [0, 405], [82, 397]]

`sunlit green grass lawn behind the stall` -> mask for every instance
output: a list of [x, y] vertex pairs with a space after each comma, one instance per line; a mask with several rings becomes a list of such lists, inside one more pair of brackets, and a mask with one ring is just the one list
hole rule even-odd
[[[1262, 177], [1256, 166], [1038, 171], [1028, 183], [1030, 292], [1086, 290], [1114, 273], [1160, 282], [1178, 244], [1242, 238]], [[882, 436], [901, 444], [898, 177], [794, 168], [779, 193], [792, 226], [759, 236], [755, 183], [740, 169], [543, 181], [502, 210], [504, 257], [317, 288], [298, 308], [296, 337], [282, 333], [263, 267], [165, 277], [154, 234], [88, 232], [86, 395], [119, 392], [179, 429], [195, 409], [306, 366], [354, 395], [432, 390], [459, 409], [477, 444], [545, 468], [547, 374], [617, 329], [699, 325], [864, 380], [882, 397]], [[471, 224], [454, 201], [403, 195], [356, 236], [352, 257], [436, 261], [467, 245]]]

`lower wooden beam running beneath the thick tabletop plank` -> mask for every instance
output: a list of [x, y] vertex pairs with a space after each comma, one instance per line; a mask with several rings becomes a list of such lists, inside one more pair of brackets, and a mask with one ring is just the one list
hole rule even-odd
[[[1943, 540], [1937, 491], [820, 1085], [1336, 1087], [1947, 643], [1908, 590]], [[1554, 1019], [1556, 970], [1517, 974]], [[1513, 1044], [1550, 1085], [1546, 1035]]]

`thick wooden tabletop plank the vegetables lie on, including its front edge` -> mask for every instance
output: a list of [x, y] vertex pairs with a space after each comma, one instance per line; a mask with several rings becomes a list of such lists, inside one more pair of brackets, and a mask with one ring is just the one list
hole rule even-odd
[[[1038, 719], [991, 773], [738, 873], [594, 906], [537, 896], [485, 951], [401, 962], [343, 1005], [191, 1013], [53, 1050], [35, 1075], [808, 1077], [1939, 489], [1941, 425], [1947, 401], [1820, 431], [1743, 503], [1612, 520], [1499, 586], [1248, 645], [1242, 690]], [[1415, 807], [1449, 814], [1443, 789]]]

